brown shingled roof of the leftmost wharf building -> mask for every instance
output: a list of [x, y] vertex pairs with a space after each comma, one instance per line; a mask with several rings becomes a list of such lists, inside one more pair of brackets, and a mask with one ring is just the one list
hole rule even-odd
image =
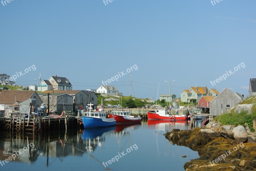
[[0, 104], [14, 104], [16, 101], [23, 102], [33, 96], [36, 91], [3, 90], [0, 93]]

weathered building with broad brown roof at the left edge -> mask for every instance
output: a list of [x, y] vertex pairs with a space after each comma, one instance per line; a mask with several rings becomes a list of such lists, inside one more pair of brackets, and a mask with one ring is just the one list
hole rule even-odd
[[43, 102], [36, 91], [22, 90], [4, 90], [0, 93], [0, 110], [4, 110], [8, 105], [20, 104], [29, 98], [36, 99], [36, 106], [40, 106]]

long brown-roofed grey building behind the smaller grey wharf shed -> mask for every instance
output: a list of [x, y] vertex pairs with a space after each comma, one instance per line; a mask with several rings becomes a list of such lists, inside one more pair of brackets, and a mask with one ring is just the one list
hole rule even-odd
[[[44, 94], [50, 93], [51, 90], [44, 91]], [[77, 112], [80, 108], [86, 109], [88, 104], [93, 104], [93, 109], [97, 109], [98, 96], [92, 91], [84, 90], [54, 90], [53, 94], [68, 94], [73, 97], [73, 111]], [[41, 95], [41, 94], [40, 94]], [[81, 106], [81, 107], [80, 107]]]

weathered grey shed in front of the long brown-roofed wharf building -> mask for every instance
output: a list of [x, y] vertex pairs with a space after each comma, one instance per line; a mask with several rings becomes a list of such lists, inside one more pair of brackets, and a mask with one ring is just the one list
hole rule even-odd
[[[46, 93], [38, 93], [39, 97], [42, 99], [43, 103], [48, 104], [48, 94]], [[73, 96], [68, 95], [66, 93], [50, 93], [49, 94], [49, 112], [57, 112], [57, 114], [61, 114], [64, 110], [73, 111]], [[59, 103], [58, 103], [59, 102]], [[57, 104], [58, 103], [58, 104]], [[63, 106], [64, 103], [64, 106]]]

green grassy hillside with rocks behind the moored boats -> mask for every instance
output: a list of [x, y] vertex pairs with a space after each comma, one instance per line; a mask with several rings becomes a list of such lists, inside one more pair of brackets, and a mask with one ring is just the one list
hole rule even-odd
[[[107, 106], [107, 105], [121, 105], [121, 96], [115, 96], [115, 95], [106, 95], [106, 94], [103, 94], [103, 95], [97, 95], [98, 96], [98, 105], [101, 104], [101, 98], [103, 99], [103, 105], [104, 106]], [[105, 99], [109, 99], [111, 98], [112, 100], [111, 101], [105, 101]], [[150, 103], [150, 102], [147, 102], [149, 99], [143, 99], [143, 98], [136, 98], [136, 97], [130, 97], [130, 96], [122, 96], [122, 107], [126, 107], [126, 103], [128, 102], [128, 100], [132, 98], [132, 99], [135, 99], [133, 100], [134, 101], [134, 104], [137, 106], [137, 107], [140, 107], [140, 106], [145, 106], [145, 104], [150, 104], [150, 105], [153, 105], [153, 103]]]

